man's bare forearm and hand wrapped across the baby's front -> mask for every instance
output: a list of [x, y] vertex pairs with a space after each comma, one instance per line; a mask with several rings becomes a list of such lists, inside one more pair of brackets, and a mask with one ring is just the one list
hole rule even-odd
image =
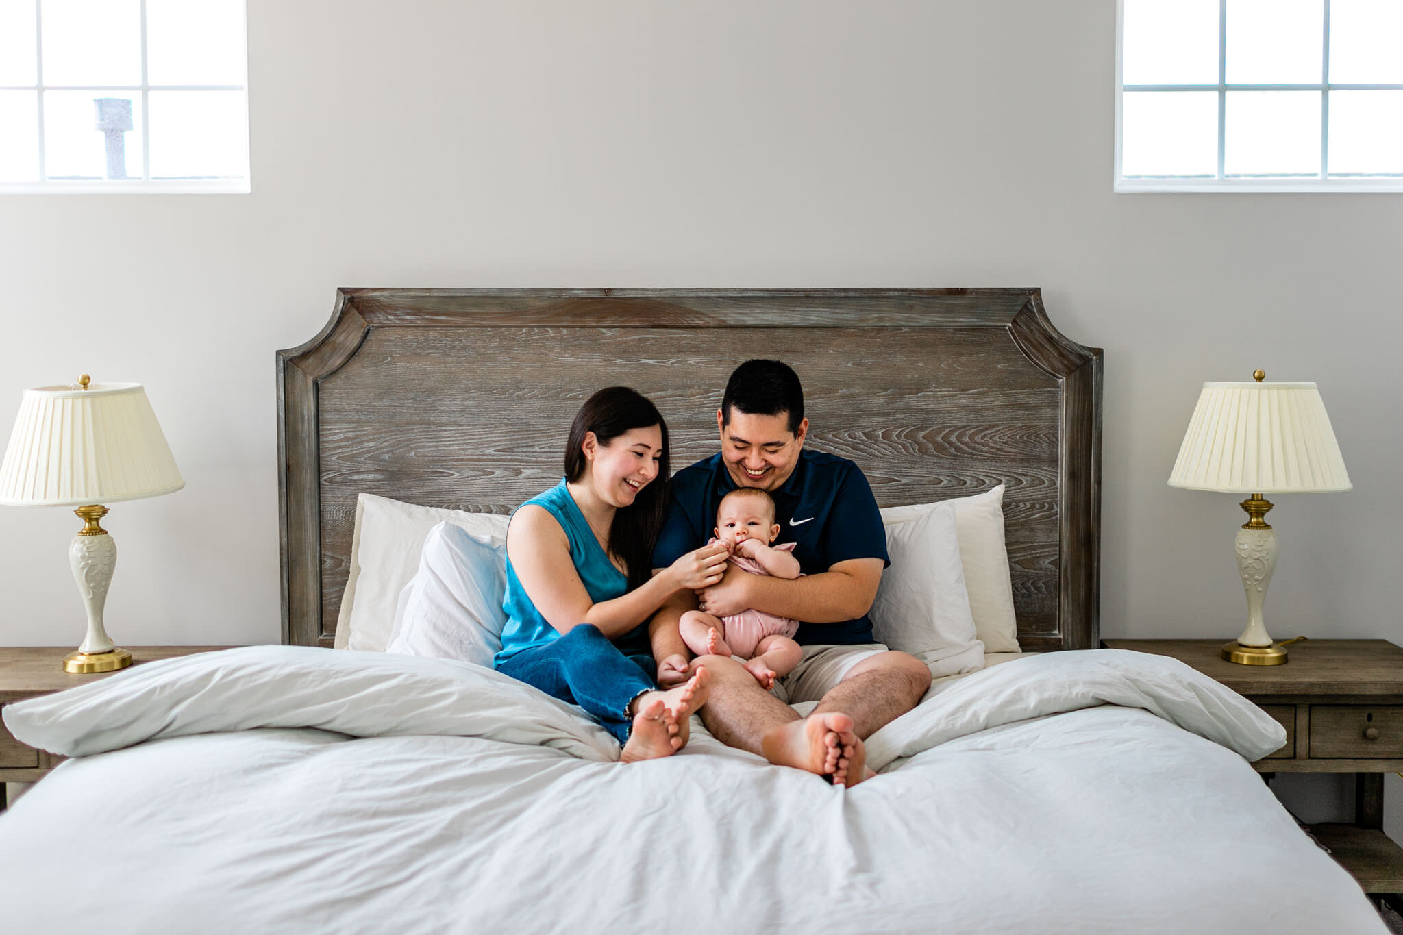
[[[880, 558], [850, 558], [836, 562], [826, 572], [793, 580], [749, 575], [730, 566], [720, 583], [702, 592], [700, 607], [713, 617], [739, 614], [753, 607], [808, 624], [838, 624], [856, 620], [871, 610], [882, 566]], [[675, 594], [673, 600], [676, 599]], [[669, 607], [671, 603], [664, 604], [658, 615]], [[678, 617], [680, 615], [679, 611]]]

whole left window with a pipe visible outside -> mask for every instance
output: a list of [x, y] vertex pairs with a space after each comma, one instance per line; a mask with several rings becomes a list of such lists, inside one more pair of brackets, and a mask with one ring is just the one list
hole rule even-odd
[[244, 0], [0, 0], [0, 192], [247, 192]]

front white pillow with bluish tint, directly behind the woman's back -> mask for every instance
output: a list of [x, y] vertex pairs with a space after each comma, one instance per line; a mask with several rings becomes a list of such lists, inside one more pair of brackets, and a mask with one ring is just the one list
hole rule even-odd
[[439, 523], [424, 540], [419, 571], [384, 652], [492, 666], [502, 648], [506, 547]]

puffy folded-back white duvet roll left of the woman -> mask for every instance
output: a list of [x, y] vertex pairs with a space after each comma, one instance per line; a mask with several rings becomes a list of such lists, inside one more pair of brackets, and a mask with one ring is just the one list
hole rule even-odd
[[69, 757], [194, 733], [317, 728], [356, 737], [477, 736], [619, 758], [617, 742], [596, 722], [491, 669], [316, 646], [164, 659], [3, 714], [14, 736]]

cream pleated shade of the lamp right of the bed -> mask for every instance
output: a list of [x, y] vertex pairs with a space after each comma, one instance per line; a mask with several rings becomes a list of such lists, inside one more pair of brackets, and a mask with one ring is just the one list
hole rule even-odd
[[1313, 383], [1205, 383], [1169, 485], [1225, 493], [1354, 486]]

